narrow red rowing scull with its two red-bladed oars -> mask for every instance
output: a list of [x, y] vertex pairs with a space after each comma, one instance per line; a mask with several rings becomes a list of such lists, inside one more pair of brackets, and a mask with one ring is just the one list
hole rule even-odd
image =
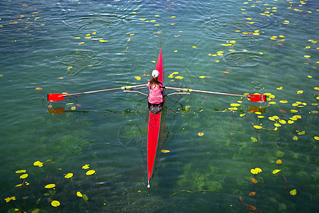
[[[159, 56], [157, 59], [156, 70], [159, 71], [158, 80], [163, 82], [163, 59], [162, 59], [162, 49], [159, 51]], [[122, 89], [123, 92], [138, 92], [140, 94], [147, 95], [145, 93], [135, 91], [133, 89], [142, 89], [147, 88], [147, 84], [133, 85], [133, 86], [124, 86], [124, 87], [116, 87], [111, 89], [101, 89], [89, 92], [79, 92], [73, 94], [47, 94], [47, 100], [49, 102], [58, 102], [65, 99], [65, 97], [79, 95], [79, 94], [91, 94], [96, 92], [107, 92], [113, 90]], [[177, 87], [165, 87], [165, 89], [173, 89], [177, 91], [177, 94], [190, 94], [190, 92], [202, 92], [207, 94], [221, 94], [221, 95], [229, 95], [236, 97], [247, 97], [251, 102], [266, 102], [267, 98], [264, 94], [250, 94], [250, 95], [242, 95], [242, 94], [230, 94], [223, 92], [211, 92], [211, 91], [203, 91], [197, 89], [188, 89], [188, 88], [177, 88]], [[176, 93], [171, 93], [176, 94]], [[171, 95], [168, 94], [168, 95]], [[157, 114], [153, 114], [150, 110], [150, 116], [148, 119], [148, 129], [147, 129], [147, 187], [150, 188], [150, 180], [152, 178], [152, 172], [155, 165], [155, 157], [157, 153], [157, 144], [159, 141], [159, 131], [161, 126], [162, 119], [162, 109], [157, 112]]]

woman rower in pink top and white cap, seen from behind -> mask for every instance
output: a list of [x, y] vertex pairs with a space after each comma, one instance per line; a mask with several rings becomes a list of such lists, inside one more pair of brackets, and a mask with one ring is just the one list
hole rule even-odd
[[148, 80], [147, 87], [150, 89], [148, 95], [148, 109], [152, 114], [157, 114], [164, 107], [164, 84], [158, 80], [159, 72], [152, 71], [152, 78]]

